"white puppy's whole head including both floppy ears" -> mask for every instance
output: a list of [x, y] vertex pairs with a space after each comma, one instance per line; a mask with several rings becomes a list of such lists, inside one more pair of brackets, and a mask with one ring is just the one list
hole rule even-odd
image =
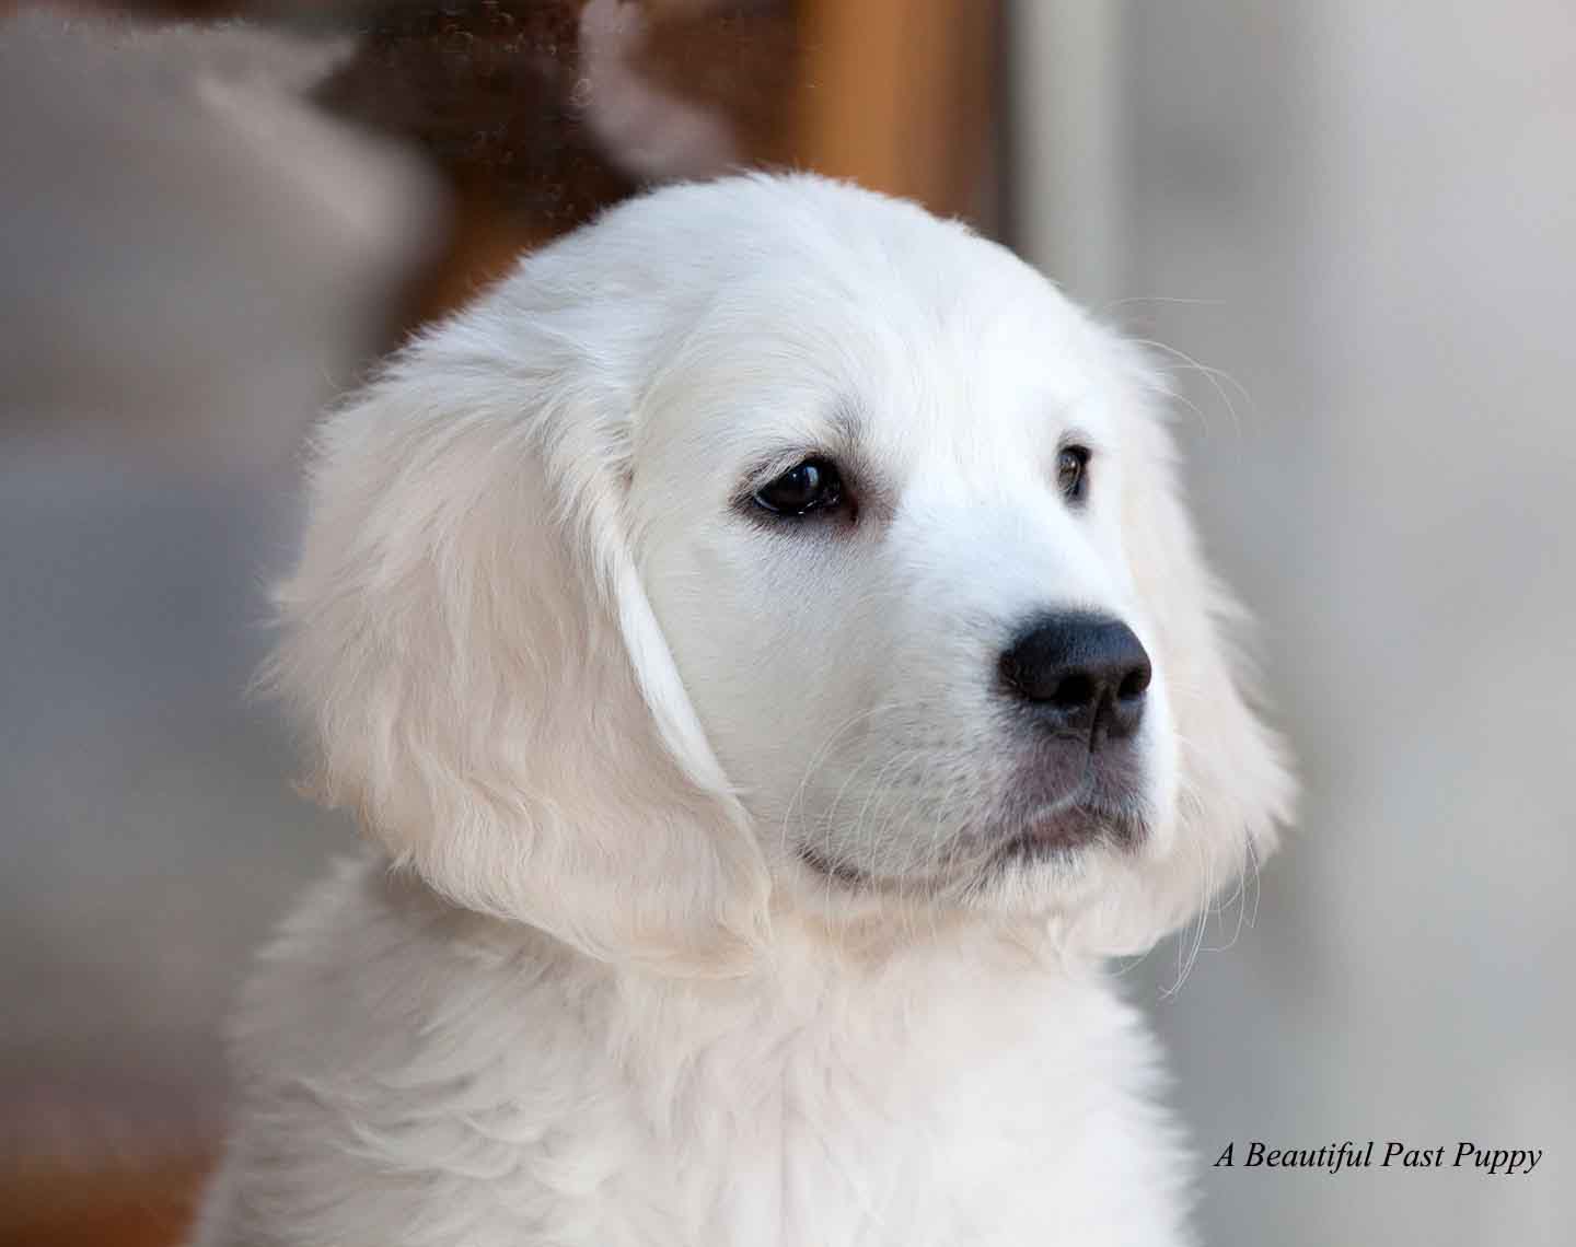
[[599, 956], [769, 891], [1139, 948], [1289, 797], [1155, 394], [916, 208], [663, 191], [329, 422], [276, 679], [433, 886]]

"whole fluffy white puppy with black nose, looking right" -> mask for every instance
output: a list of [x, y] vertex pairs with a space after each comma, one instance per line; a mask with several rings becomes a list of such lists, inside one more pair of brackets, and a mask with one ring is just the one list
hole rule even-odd
[[377, 852], [246, 995], [197, 1242], [1185, 1241], [1102, 957], [1291, 784], [1158, 389], [804, 176], [616, 208], [407, 350], [322, 433], [273, 671]]

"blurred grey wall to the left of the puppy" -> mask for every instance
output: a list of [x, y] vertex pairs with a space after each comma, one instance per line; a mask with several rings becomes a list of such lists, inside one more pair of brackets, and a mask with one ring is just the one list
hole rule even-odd
[[0, 22], [0, 1242], [19, 1165], [208, 1146], [240, 968], [342, 831], [244, 688], [301, 438], [443, 214], [304, 98], [344, 54]]

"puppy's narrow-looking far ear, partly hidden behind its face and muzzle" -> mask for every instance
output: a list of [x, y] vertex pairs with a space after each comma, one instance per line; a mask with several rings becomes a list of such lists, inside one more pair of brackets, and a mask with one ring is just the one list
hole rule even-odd
[[[1136, 350], [1128, 365], [1158, 397]], [[1127, 920], [1144, 913], [1149, 927], [1122, 951], [1147, 946], [1234, 886], [1273, 850], [1295, 798], [1281, 740], [1254, 710], [1251, 663], [1234, 642], [1247, 612], [1204, 564], [1160, 406], [1132, 413], [1122, 523], [1177, 737], [1177, 811], [1165, 860], [1138, 877], [1143, 897], [1121, 902]]]

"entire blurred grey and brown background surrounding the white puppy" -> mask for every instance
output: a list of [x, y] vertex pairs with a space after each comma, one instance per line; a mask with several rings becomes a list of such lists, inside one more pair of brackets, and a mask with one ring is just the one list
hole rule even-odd
[[[1307, 789], [1127, 971], [1204, 1241], [1573, 1241], [1570, 0], [0, 0], [0, 1244], [177, 1241], [247, 954], [348, 842], [243, 698], [314, 413], [749, 164], [968, 217], [1174, 370]], [[1253, 1138], [1544, 1159], [1207, 1167]]]

